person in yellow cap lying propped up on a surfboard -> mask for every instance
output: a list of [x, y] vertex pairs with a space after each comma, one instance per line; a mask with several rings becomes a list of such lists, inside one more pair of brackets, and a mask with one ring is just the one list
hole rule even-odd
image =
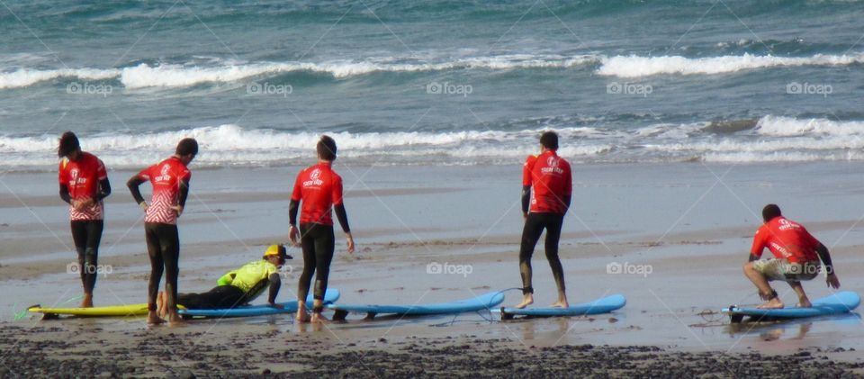
[[[279, 269], [288, 258], [285, 247], [282, 245], [270, 245], [264, 252], [264, 257], [240, 266], [236, 270], [222, 275], [217, 285], [205, 293], [180, 293], [177, 295], [177, 303], [187, 309], [229, 309], [243, 305], [255, 300], [265, 288], [270, 289], [267, 303], [279, 308], [276, 304], [276, 295], [282, 280], [279, 277]], [[161, 317], [167, 314], [167, 299], [164, 292], [157, 296], [157, 308]]]

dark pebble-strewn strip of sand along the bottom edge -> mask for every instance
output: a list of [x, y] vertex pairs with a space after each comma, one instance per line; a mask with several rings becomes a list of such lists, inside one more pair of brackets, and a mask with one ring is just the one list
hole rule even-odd
[[[222, 326], [223, 328], [226, 326]], [[798, 377], [851, 378], [864, 363], [837, 361], [820, 348], [782, 356], [758, 352], [676, 352], [650, 346], [523, 347], [508, 338], [362, 338], [273, 326], [203, 326], [85, 336], [61, 326], [4, 327], [13, 345], [2, 377]], [[10, 336], [17, 336], [10, 338]]]

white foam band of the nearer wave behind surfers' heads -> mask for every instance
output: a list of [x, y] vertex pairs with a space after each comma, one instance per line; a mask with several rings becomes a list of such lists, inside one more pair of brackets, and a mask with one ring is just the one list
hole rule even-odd
[[[753, 129], [716, 134], [709, 122], [656, 124], [631, 130], [597, 125], [558, 127], [563, 157], [580, 161], [799, 162], [864, 160], [864, 122], [762, 117]], [[366, 164], [518, 164], [536, 153], [540, 130], [386, 131], [329, 133], [340, 157]], [[319, 135], [249, 130], [221, 125], [144, 134], [82, 135], [82, 146], [112, 168], [142, 167], [170, 155], [177, 140], [201, 144], [196, 159], [205, 167], [256, 167], [303, 163], [314, 156]], [[0, 136], [0, 161], [12, 169], [53, 169], [56, 136]]]

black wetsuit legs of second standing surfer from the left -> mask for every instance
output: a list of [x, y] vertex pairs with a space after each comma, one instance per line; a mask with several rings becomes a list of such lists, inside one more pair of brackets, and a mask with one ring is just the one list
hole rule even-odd
[[144, 224], [147, 237], [147, 252], [150, 257], [150, 281], [148, 284], [148, 304], [151, 310], [156, 309], [156, 298], [159, 292], [159, 282], [165, 273], [166, 306], [176, 308], [177, 275], [180, 258], [180, 236], [176, 225], [157, 222]]

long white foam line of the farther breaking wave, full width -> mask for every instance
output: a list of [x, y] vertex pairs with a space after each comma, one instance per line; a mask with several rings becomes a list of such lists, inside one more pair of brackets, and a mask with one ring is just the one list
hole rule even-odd
[[68, 77], [79, 80], [119, 80], [127, 88], [185, 87], [203, 83], [229, 83], [254, 77], [266, 77], [290, 72], [315, 72], [346, 78], [375, 72], [424, 72], [462, 69], [539, 69], [577, 68], [599, 64], [599, 75], [614, 77], [647, 77], [658, 74], [712, 75], [745, 69], [795, 66], [847, 66], [864, 63], [864, 55], [823, 55], [789, 58], [774, 56], [724, 56], [685, 58], [680, 56], [595, 56], [595, 55], [532, 55], [510, 54], [492, 57], [458, 58], [449, 60], [397, 59], [393, 57], [365, 60], [329, 60], [323, 62], [258, 62], [201, 65], [148, 65], [127, 68], [19, 68], [0, 72], [0, 89], [20, 88]]

